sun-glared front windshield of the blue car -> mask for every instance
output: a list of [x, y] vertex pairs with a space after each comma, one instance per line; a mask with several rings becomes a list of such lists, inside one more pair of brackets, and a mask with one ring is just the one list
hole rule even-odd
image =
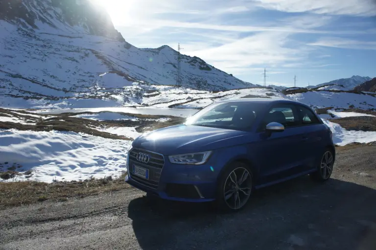
[[186, 125], [206, 126], [234, 130], [247, 130], [263, 111], [265, 105], [250, 102], [212, 104], [185, 122]]

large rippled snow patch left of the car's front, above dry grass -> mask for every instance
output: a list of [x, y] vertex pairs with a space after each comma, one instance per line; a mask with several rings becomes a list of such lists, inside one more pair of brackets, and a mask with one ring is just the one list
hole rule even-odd
[[0, 130], [0, 163], [33, 169], [30, 179], [42, 182], [103, 178], [126, 170], [130, 144], [76, 133]]

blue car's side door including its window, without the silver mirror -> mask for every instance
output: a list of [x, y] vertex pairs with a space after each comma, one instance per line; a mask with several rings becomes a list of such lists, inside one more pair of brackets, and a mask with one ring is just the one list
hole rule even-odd
[[[260, 162], [259, 184], [278, 182], [299, 173], [303, 149], [300, 147], [302, 133], [297, 133], [298, 117], [294, 105], [278, 104], [273, 106], [260, 122], [259, 140], [255, 149]], [[265, 127], [270, 122], [281, 123], [284, 131], [273, 132], [268, 136]]]

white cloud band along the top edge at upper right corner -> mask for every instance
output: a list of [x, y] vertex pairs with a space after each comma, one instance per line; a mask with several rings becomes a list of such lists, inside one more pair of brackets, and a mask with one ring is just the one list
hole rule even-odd
[[258, 6], [283, 12], [376, 16], [374, 0], [254, 0]]

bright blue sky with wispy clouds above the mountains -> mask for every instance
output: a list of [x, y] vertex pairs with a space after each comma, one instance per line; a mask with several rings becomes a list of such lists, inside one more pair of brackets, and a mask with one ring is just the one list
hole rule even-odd
[[136, 47], [169, 45], [253, 84], [376, 77], [376, 0], [92, 0]]

